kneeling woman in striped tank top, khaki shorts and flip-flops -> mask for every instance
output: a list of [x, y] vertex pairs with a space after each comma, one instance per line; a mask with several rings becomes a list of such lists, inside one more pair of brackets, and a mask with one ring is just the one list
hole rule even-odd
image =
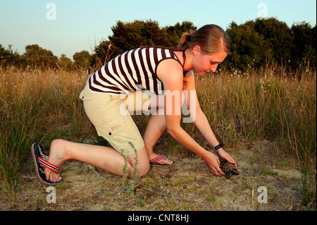
[[[217, 25], [205, 25], [192, 35], [182, 35], [179, 49], [140, 47], [106, 63], [89, 76], [80, 98], [98, 134], [112, 147], [54, 140], [46, 161], [42, 146], [35, 143], [32, 152], [40, 180], [47, 185], [63, 181], [58, 172], [68, 159], [92, 164], [120, 176], [123, 176], [122, 169], [127, 159], [128, 177], [132, 176], [134, 169], [139, 176], [146, 175], [150, 164], [172, 166], [173, 161], [153, 152], [156, 141], [166, 129], [181, 145], [204, 159], [212, 174], [224, 175], [218, 157], [237, 167], [235, 160], [219, 145], [194, 91], [193, 70], [199, 75], [215, 72], [229, 49], [225, 32]], [[137, 99], [136, 96], [142, 97]], [[216, 147], [218, 157], [204, 150], [181, 128], [179, 111], [184, 100], [194, 115], [194, 125], [209, 144]], [[135, 107], [141, 104], [142, 109], [157, 109], [156, 114], [151, 115], [143, 138], [123, 108], [131, 106], [130, 102]], [[163, 113], [159, 111], [160, 107]]]

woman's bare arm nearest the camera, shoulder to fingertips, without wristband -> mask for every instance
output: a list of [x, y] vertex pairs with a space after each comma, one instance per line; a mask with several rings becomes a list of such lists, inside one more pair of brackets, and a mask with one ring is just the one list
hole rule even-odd
[[213, 174], [224, 175], [219, 168], [220, 162], [218, 157], [204, 150], [180, 126], [181, 93], [183, 87], [182, 67], [174, 60], [165, 60], [160, 63], [157, 74], [164, 85], [164, 109], [168, 133], [181, 145], [204, 159]]

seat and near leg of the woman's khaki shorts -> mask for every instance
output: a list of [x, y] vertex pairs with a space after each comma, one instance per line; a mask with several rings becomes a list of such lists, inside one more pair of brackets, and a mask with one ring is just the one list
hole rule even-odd
[[[91, 92], [85, 87], [80, 99], [89, 120], [99, 136], [105, 138], [118, 152], [128, 157], [144, 147], [144, 141], [127, 110], [126, 97]], [[143, 97], [143, 103], [149, 101]]]

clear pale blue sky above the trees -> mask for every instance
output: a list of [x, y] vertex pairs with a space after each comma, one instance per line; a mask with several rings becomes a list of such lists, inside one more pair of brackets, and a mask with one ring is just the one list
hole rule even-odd
[[25, 53], [39, 44], [73, 60], [82, 50], [113, 35], [117, 21], [154, 20], [160, 27], [190, 21], [197, 28], [217, 24], [226, 30], [258, 17], [316, 25], [316, 0], [0, 0], [0, 44]]

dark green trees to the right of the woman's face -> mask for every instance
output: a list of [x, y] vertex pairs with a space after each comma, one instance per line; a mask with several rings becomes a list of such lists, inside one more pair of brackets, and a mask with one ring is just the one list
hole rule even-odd
[[316, 25], [293, 24], [269, 18], [251, 20], [242, 25], [230, 23], [226, 30], [231, 54], [225, 63], [235, 68], [248, 68], [275, 63], [291, 68], [301, 63], [316, 66]]

